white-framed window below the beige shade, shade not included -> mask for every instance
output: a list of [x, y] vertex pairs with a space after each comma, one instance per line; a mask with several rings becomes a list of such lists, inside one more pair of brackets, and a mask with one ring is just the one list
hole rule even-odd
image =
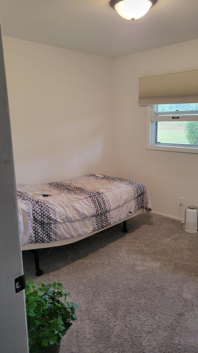
[[198, 103], [156, 104], [148, 115], [147, 149], [198, 153]]

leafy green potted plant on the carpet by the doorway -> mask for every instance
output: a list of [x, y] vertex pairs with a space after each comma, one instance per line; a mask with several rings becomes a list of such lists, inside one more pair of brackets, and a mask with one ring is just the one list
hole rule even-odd
[[57, 281], [35, 285], [26, 279], [25, 297], [30, 353], [58, 353], [79, 305], [66, 301], [70, 294]]

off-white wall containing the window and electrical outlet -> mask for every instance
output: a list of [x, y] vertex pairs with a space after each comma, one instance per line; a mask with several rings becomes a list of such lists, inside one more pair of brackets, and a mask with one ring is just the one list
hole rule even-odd
[[142, 181], [153, 210], [179, 217], [178, 198], [198, 207], [198, 154], [146, 150], [146, 108], [138, 107], [138, 78], [197, 69], [198, 40], [114, 60], [116, 174]]

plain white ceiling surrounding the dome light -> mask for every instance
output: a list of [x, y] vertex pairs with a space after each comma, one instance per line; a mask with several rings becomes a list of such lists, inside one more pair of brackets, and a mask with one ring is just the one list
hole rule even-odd
[[142, 18], [109, 0], [0, 0], [2, 35], [112, 58], [198, 38], [198, 0], [158, 0]]

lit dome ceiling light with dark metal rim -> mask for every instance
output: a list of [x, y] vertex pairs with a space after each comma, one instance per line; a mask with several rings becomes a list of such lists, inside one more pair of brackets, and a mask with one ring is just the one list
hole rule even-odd
[[157, 0], [111, 0], [110, 6], [126, 20], [136, 20], [144, 16]]

